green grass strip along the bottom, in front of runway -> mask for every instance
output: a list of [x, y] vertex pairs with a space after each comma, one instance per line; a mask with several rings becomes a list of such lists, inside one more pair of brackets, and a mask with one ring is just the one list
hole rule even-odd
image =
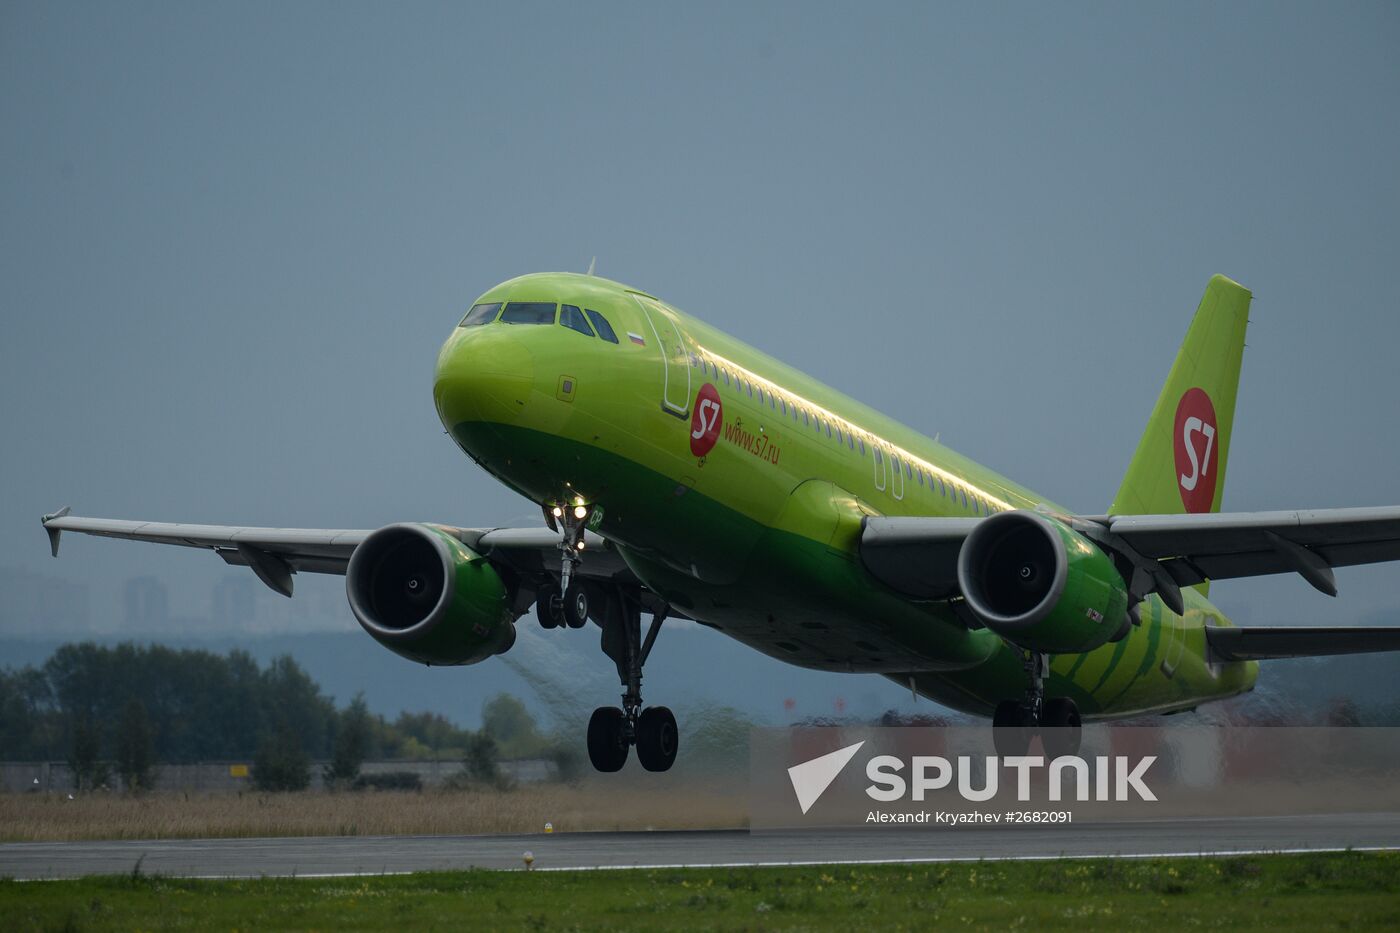
[[1400, 927], [1400, 853], [0, 881], [7, 930]]

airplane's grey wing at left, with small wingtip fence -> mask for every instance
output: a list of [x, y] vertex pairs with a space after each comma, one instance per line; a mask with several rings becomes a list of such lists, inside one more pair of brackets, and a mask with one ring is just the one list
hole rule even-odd
[[[504, 563], [517, 573], [531, 576], [545, 572], [550, 560], [559, 560], [557, 532], [549, 528], [456, 528], [434, 525], [447, 531], [472, 551]], [[252, 528], [244, 525], [195, 525], [161, 521], [125, 521], [118, 518], [84, 518], [67, 509], [43, 517], [49, 532], [49, 546], [59, 556], [59, 539], [64, 531], [179, 545], [213, 551], [225, 563], [246, 566], [276, 593], [291, 595], [295, 573], [344, 574], [350, 555], [372, 528]], [[589, 551], [584, 565], [585, 576], [612, 577], [626, 572], [626, 565], [608, 542], [588, 531], [584, 534]]]

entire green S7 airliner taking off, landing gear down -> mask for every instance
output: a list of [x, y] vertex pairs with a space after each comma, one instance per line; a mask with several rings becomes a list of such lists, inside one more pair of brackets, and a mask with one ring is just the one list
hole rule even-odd
[[[375, 531], [45, 516], [63, 531], [207, 548], [283, 595], [346, 576], [350, 609], [423, 664], [601, 629], [623, 686], [588, 726], [599, 770], [676, 756], [643, 706], [668, 618], [790, 664], [882, 674], [991, 716], [998, 751], [1072, 754], [1084, 720], [1249, 691], [1259, 660], [1400, 650], [1400, 629], [1238, 628], [1210, 581], [1400, 559], [1400, 507], [1221, 513], [1250, 293], [1215, 276], [1105, 514], [1079, 516], [661, 298], [591, 275], [504, 282], [442, 345], [452, 440], [538, 503], [535, 528]], [[643, 630], [643, 616], [650, 623]]]

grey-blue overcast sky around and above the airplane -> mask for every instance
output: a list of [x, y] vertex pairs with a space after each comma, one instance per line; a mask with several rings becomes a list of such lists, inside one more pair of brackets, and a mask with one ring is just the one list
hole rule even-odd
[[[10, 1], [0, 565], [204, 612], [217, 559], [55, 563], [41, 513], [535, 521], [433, 364], [491, 284], [595, 255], [1089, 513], [1222, 272], [1256, 294], [1225, 507], [1400, 503], [1397, 106], [1394, 3]], [[1338, 576], [1215, 595], [1400, 608], [1400, 569]]]

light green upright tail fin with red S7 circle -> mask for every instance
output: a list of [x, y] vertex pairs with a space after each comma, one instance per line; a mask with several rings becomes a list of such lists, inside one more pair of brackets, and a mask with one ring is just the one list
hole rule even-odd
[[1219, 511], [1249, 301], [1211, 276], [1109, 514]]

